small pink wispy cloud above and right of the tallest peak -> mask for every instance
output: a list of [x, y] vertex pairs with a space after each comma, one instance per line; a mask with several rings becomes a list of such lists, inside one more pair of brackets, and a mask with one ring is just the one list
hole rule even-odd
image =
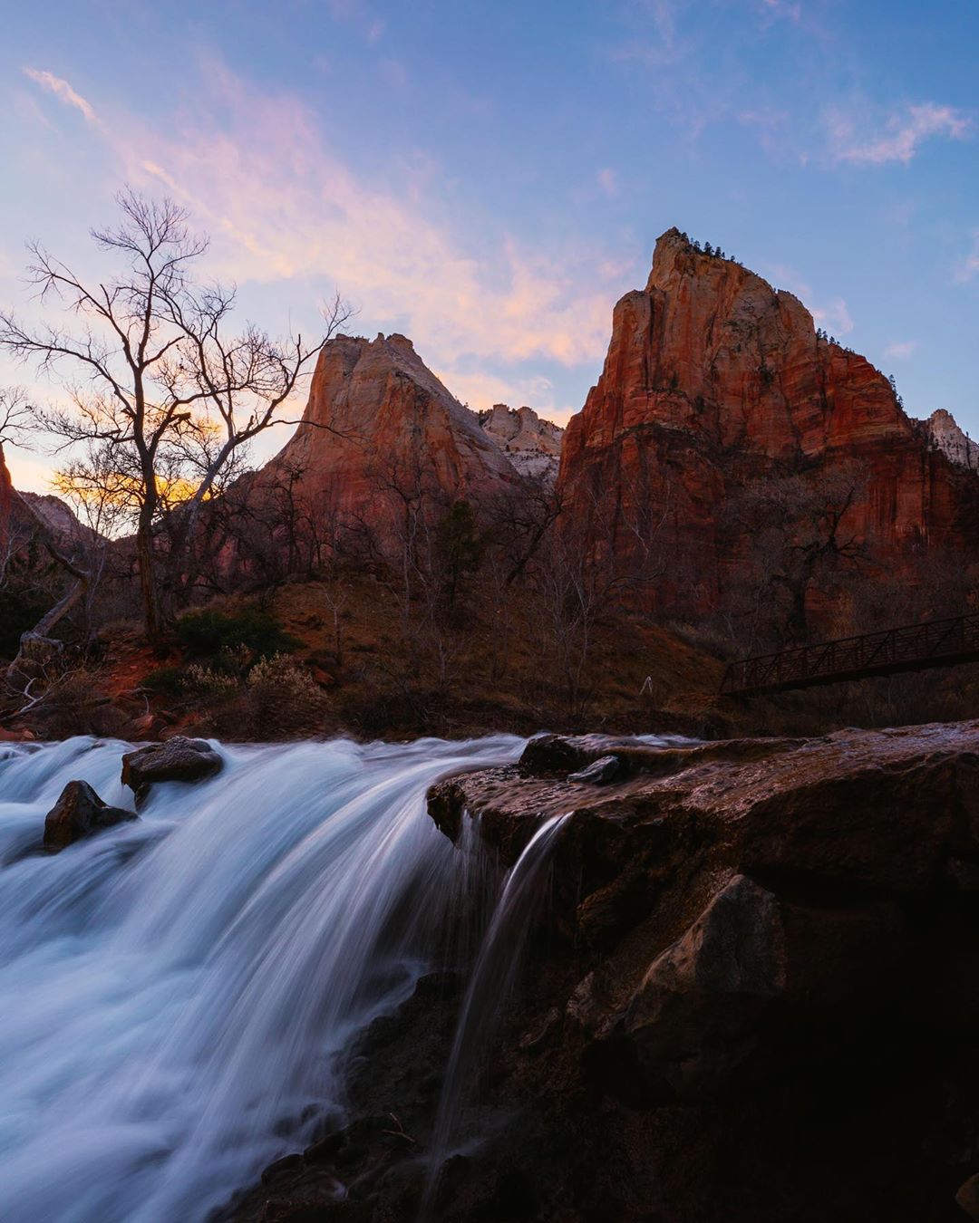
[[935, 137], [963, 141], [973, 131], [969, 115], [934, 102], [896, 111], [874, 131], [868, 131], [853, 110], [839, 106], [826, 111], [825, 121], [830, 157], [852, 165], [887, 165], [891, 161], [908, 165], [925, 141]]

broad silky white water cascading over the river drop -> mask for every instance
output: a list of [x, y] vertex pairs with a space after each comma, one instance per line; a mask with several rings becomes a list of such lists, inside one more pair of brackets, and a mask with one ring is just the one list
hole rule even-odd
[[460, 872], [427, 786], [521, 746], [220, 748], [54, 857], [21, 855], [66, 781], [128, 805], [124, 745], [0, 748], [0, 1219], [195, 1223], [296, 1150], [431, 966]]

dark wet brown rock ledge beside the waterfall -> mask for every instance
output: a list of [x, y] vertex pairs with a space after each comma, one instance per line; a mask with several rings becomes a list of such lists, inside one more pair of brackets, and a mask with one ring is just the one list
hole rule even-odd
[[[571, 812], [433, 1217], [979, 1218], [979, 722], [543, 737], [430, 810], [503, 866]], [[374, 1024], [348, 1128], [230, 1217], [414, 1218], [458, 994]]]

